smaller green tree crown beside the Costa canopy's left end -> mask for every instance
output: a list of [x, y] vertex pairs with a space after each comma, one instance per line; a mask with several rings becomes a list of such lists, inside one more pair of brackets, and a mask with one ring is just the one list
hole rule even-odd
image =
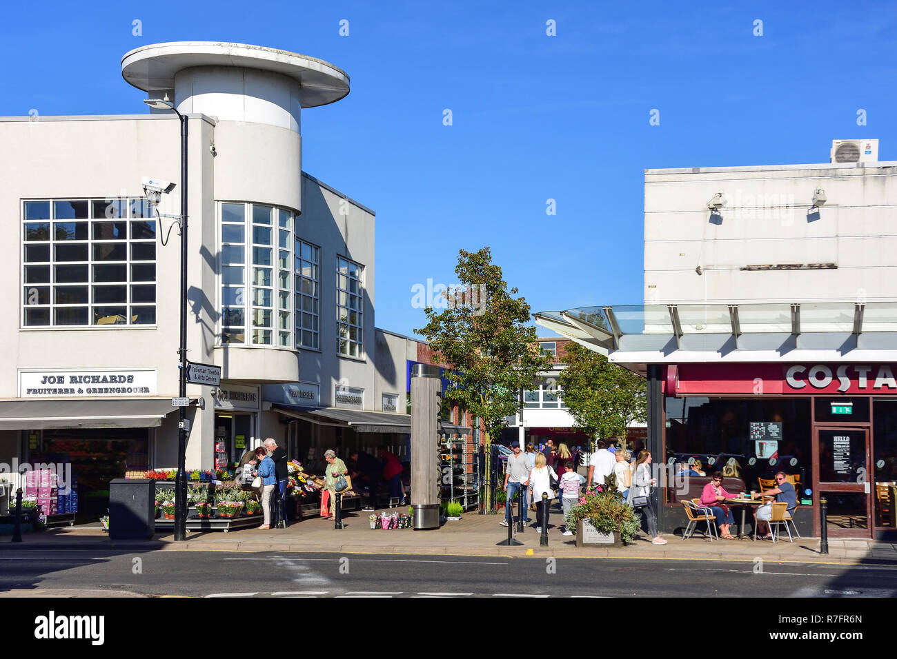
[[574, 428], [593, 438], [625, 438], [633, 421], [645, 421], [648, 391], [645, 378], [612, 364], [579, 343], [568, 343], [558, 384], [573, 417]]

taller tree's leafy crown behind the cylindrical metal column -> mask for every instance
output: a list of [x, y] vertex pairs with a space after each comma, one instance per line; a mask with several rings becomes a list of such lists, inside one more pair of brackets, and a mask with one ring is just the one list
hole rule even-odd
[[539, 371], [552, 367], [541, 351], [536, 327], [528, 325], [527, 300], [515, 297], [492, 263], [492, 252], [460, 250], [455, 268], [460, 286], [446, 290], [424, 309], [427, 325], [415, 329], [448, 365], [444, 396], [483, 421], [490, 437], [505, 428], [519, 408], [519, 390], [532, 388]]

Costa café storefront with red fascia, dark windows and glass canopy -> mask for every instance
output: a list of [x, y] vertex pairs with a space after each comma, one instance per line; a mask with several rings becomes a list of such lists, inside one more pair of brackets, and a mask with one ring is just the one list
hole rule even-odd
[[665, 532], [703, 484], [676, 473], [700, 460], [730, 491], [786, 473], [803, 535], [821, 533], [824, 498], [830, 536], [897, 536], [897, 305], [592, 307], [536, 322], [646, 377]]

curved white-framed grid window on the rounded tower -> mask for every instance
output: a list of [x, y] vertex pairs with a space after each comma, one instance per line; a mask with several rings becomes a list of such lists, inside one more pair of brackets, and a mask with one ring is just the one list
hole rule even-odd
[[221, 204], [222, 344], [292, 348], [289, 240], [280, 248], [292, 221], [292, 212], [266, 204]]

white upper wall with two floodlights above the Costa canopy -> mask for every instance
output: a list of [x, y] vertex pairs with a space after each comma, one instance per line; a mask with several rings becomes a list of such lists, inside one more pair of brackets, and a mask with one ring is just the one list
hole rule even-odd
[[[827, 201], [808, 216], [816, 188]], [[646, 170], [645, 303], [894, 299], [895, 210], [894, 163]], [[777, 264], [837, 267], [743, 269]]]

